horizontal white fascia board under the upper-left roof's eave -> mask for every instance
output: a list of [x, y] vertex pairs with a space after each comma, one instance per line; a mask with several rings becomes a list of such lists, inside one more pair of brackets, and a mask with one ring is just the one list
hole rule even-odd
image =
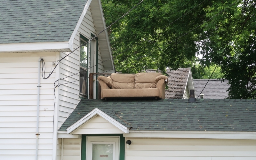
[[0, 52], [69, 49], [68, 42], [8, 43], [0, 44]]

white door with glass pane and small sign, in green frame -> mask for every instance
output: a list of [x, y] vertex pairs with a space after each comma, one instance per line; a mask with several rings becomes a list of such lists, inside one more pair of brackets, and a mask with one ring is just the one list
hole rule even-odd
[[87, 137], [86, 160], [119, 160], [119, 137]]

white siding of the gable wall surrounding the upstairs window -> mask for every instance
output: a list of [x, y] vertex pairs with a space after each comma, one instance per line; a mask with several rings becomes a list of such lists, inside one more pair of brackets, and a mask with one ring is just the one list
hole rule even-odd
[[[80, 34], [90, 39], [90, 33], [96, 35], [96, 30], [92, 20], [92, 13], [90, 9], [86, 12], [84, 19], [78, 28], [76, 36], [73, 40], [73, 50], [75, 50], [80, 45]], [[60, 57], [64, 57], [69, 52], [60, 52]], [[66, 57], [64, 60], [60, 62], [60, 78], [65, 78], [67, 76], [71, 76], [80, 71], [80, 54], [79, 49], [70, 54], [70, 56]], [[88, 59], [90, 59], [88, 57]], [[101, 67], [103, 68], [103, 67]], [[69, 83], [65, 85], [61, 85], [59, 88], [59, 122], [58, 127], [66, 120], [69, 114], [74, 110], [79, 99], [79, 74], [65, 78], [61, 80], [60, 83]], [[76, 82], [74, 82], [76, 81]], [[64, 156], [63, 156], [64, 159]]]

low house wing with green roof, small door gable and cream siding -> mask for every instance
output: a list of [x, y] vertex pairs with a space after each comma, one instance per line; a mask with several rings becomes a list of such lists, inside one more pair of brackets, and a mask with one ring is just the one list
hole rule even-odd
[[82, 99], [58, 130], [58, 153], [77, 160], [253, 160], [255, 119], [256, 100]]

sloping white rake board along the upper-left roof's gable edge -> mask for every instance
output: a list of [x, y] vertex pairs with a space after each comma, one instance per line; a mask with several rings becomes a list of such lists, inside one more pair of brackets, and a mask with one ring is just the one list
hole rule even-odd
[[73, 40], [74, 40], [74, 38], [75, 38], [75, 36], [76, 36], [76, 32], [77, 32], [78, 28], [80, 27], [80, 25], [81, 25], [81, 23], [82, 23], [82, 21], [83, 21], [83, 19], [84, 19], [84, 16], [85, 16], [85, 14], [86, 14], [86, 12], [87, 12], [87, 10], [88, 10], [88, 8], [89, 8], [91, 2], [92, 2], [92, 0], [88, 0], [88, 1], [86, 2], [85, 6], [84, 6], [84, 10], [83, 10], [83, 12], [82, 12], [82, 14], [81, 14], [81, 16], [80, 16], [78, 22], [76, 23], [76, 28], [74, 29], [74, 31], [73, 31], [73, 33], [72, 33], [72, 35], [71, 35], [71, 37], [70, 37], [70, 39], [69, 39], [69, 41], [68, 41], [68, 48], [70, 48], [70, 50], [73, 50], [73, 47], [72, 47], [72, 45], [73, 45]]

